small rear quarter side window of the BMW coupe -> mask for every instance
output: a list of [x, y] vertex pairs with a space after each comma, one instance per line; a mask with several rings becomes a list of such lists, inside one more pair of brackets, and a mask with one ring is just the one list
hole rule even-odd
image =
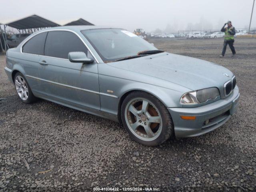
[[37, 54], [37, 55], [44, 55], [44, 42], [45, 42], [46, 35], [47, 35], [47, 32], [43, 32], [32, 37], [22, 47], [22, 52]]

